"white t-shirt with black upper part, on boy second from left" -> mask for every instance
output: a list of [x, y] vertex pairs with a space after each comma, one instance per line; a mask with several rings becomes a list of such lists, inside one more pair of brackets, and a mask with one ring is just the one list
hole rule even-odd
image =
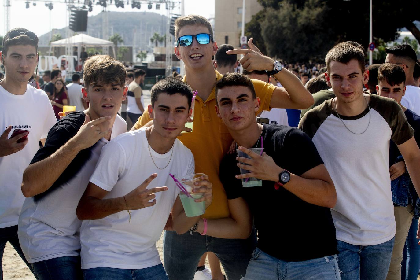
[[[70, 139], [73, 137], [77, 128], [73, 128], [72, 124], [77, 122], [80, 128], [85, 114], [74, 113], [72, 120], [69, 117], [71, 118], [72, 114], [66, 118], [71, 121], [71, 124], [66, 123], [66, 119], [64, 119], [51, 130], [53, 133], [48, 135], [45, 144], [46, 154], [41, 158], [52, 154], [51, 149], [56, 151], [60, 147], [59, 138]], [[61, 123], [64, 126], [60, 127]], [[68, 131], [72, 131], [71, 135]], [[127, 123], [117, 115], [111, 139], [126, 131]], [[49, 143], [50, 139], [58, 139], [58, 141], [53, 140], [55, 143]], [[90, 157], [87, 157], [84, 162], [79, 162], [82, 167], [76, 174], [72, 173], [71, 167], [64, 170], [64, 175], [67, 172], [68, 176], [72, 176], [66, 183], [45, 193], [42, 198], [29, 197], [25, 199], [19, 217], [18, 236], [22, 251], [29, 263], [80, 254], [79, 229], [81, 221], [76, 217], [76, 207], [95, 170], [101, 149], [107, 143], [108, 140], [102, 138], [93, 145], [90, 149]], [[39, 153], [41, 152], [43, 151], [40, 150]], [[76, 157], [75, 160], [80, 159]]]

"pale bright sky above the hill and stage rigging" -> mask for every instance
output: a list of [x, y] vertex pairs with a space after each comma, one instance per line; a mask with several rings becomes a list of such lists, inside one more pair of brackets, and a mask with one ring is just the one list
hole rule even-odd
[[[5, 24], [4, 24], [4, 5], [6, 0], [2, 0], [2, 7], [1, 7], [1, 23], [0, 26], [0, 35], [4, 35]], [[66, 17], [66, 4], [65, 3], [53, 3], [54, 8], [53, 10], [49, 10], [46, 6], [46, 2], [36, 2], [36, 6], [33, 5], [34, 2], [29, 1], [30, 8], [26, 7], [25, 0], [10, 0], [11, 1], [11, 26], [10, 28], [15, 27], [24, 27], [38, 36], [45, 34], [50, 31], [50, 17], [51, 17], [51, 28], [61, 29], [68, 25], [68, 18]], [[126, 0], [125, 0], [126, 1]], [[214, 0], [205, 0], [205, 1], [197, 1], [197, 0], [184, 0], [185, 1], [185, 14], [199, 14], [201, 16], [205, 16], [206, 18], [214, 17]], [[80, 0], [83, 2], [83, 0]], [[102, 11], [102, 7], [100, 5], [96, 5], [96, 2], [93, 6], [93, 11], [89, 12], [89, 16], [97, 15]], [[131, 3], [131, 0], [130, 0]], [[199, 4], [198, 4], [199, 3]], [[151, 10], [147, 9], [147, 5], [142, 4], [141, 9], [137, 10], [131, 8], [131, 4], [127, 5], [125, 3], [124, 8], [116, 8], [115, 5], [108, 5], [108, 10], [110, 11], [120, 11], [120, 12], [132, 12], [132, 11], [151, 11], [156, 13], [161, 13], [166, 15], [165, 4], [163, 4], [160, 10], [155, 10], [155, 5]], [[175, 9], [174, 13], [180, 13], [179, 9]], [[88, 21], [89, 24], [89, 21]]]

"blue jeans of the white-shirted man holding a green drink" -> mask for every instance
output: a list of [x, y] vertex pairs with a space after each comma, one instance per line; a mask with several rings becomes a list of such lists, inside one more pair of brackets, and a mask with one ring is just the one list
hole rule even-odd
[[162, 264], [138, 270], [112, 267], [95, 267], [83, 270], [85, 280], [168, 280]]

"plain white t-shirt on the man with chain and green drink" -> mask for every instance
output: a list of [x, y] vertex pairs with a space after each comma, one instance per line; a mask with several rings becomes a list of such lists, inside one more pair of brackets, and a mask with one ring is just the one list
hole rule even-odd
[[[160, 168], [168, 166], [160, 170], [155, 164]], [[157, 177], [147, 188], [167, 186], [168, 190], [155, 194], [154, 206], [132, 210], [131, 222], [126, 210], [82, 222], [82, 269], [142, 269], [161, 263], [156, 241], [179, 193], [169, 173], [178, 176], [194, 173], [191, 151], [176, 139], [165, 154], [158, 154], [151, 147], [149, 152], [145, 128], [129, 131], [103, 147], [90, 181], [109, 191], [104, 199], [116, 198], [128, 194], [153, 173]]]

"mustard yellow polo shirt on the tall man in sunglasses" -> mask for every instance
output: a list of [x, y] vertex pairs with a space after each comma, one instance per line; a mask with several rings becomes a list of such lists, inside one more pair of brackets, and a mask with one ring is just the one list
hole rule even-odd
[[[216, 72], [216, 79], [222, 79], [223, 75]], [[184, 76], [183, 81], [186, 81]], [[260, 80], [252, 80], [257, 97], [261, 99], [259, 114], [262, 110], [270, 108], [271, 96], [276, 86]], [[206, 209], [203, 217], [218, 219], [229, 217], [228, 199], [219, 178], [219, 166], [223, 156], [228, 152], [233, 138], [223, 121], [218, 118], [215, 110], [215, 88], [206, 101], [198, 95], [194, 104], [194, 128], [191, 133], [183, 133], [178, 139], [194, 155], [195, 173], [205, 173], [209, 181], [213, 183], [213, 202]], [[147, 110], [134, 125], [139, 129], [151, 120]], [[232, 174], [234, 176], [236, 174]]]

